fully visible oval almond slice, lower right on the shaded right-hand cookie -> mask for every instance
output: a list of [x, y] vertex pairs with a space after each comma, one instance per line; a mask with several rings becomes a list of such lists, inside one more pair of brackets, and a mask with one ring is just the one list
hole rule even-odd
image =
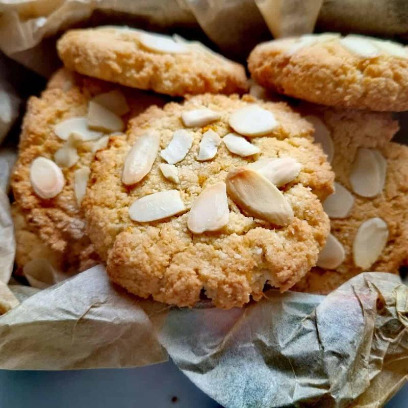
[[388, 240], [388, 225], [378, 217], [364, 221], [353, 242], [355, 266], [367, 270], [375, 263]]

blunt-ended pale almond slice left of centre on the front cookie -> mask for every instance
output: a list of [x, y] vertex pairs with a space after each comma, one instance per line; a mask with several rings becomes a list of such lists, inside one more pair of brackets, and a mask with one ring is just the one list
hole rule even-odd
[[179, 190], [160, 191], [137, 199], [129, 208], [133, 221], [157, 221], [186, 211]]

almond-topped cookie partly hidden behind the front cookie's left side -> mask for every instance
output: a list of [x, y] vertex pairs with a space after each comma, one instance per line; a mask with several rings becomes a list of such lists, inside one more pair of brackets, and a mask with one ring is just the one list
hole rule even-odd
[[60, 70], [30, 98], [11, 180], [19, 268], [44, 258], [72, 272], [99, 260], [80, 209], [90, 162], [127, 118], [161, 101], [130, 93]]

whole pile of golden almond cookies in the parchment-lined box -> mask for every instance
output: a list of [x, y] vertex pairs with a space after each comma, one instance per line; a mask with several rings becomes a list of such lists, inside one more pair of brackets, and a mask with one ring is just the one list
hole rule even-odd
[[251, 86], [179, 36], [72, 30], [58, 52], [12, 176], [19, 270], [106, 263], [138, 296], [232, 308], [265, 285], [328, 293], [408, 258], [408, 148], [374, 112], [408, 107], [404, 47], [271, 41], [249, 57]]

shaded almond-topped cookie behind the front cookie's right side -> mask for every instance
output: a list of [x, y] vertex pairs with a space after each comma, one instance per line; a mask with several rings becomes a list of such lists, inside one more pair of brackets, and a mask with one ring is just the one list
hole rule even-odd
[[308, 113], [333, 156], [336, 183], [323, 202], [331, 234], [318, 267], [294, 289], [327, 294], [363, 271], [397, 273], [408, 260], [408, 147], [390, 142], [398, 123], [388, 113]]

